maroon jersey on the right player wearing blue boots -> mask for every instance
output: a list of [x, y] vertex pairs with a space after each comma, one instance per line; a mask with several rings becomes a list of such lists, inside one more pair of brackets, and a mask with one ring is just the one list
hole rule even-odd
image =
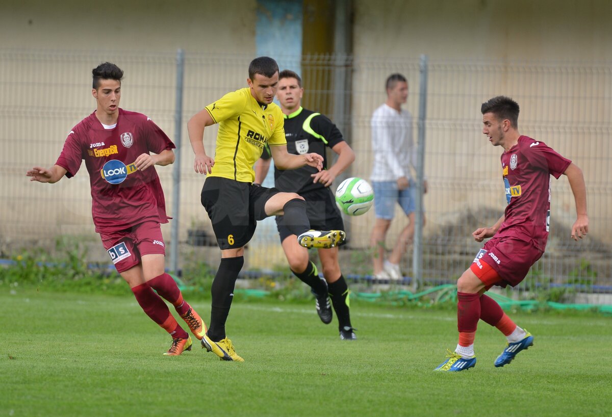
[[572, 163], [544, 142], [528, 136], [501, 155], [506, 187], [506, 218], [496, 237], [515, 237], [540, 251], [546, 248], [550, 226], [550, 175], [559, 178]]

